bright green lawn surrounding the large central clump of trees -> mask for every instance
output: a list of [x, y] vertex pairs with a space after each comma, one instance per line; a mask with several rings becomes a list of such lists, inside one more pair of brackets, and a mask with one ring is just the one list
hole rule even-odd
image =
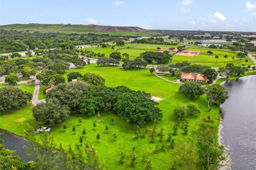
[[[202, 123], [202, 118], [211, 115], [214, 120], [214, 132], [217, 136], [218, 120], [214, 118], [219, 117], [219, 107], [213, 107], [212, 111], [207, 112], [207, 103], [205, 96], [199, 97], [195, 100], [189, 99], [187, 96], [179, 92], [180, 84], [166, 82], [162, 79], [151, 75], [146, 70], [133, 70], [125, 71], [121, 67], [102, 67], [102, 66], [85, 66], [79, 69], [72, 69], [67, 71], [63, 76], [67, 79], [67, 74], [69, 72], [78, 71], [82, 74], [86, 72], [93, 72], [99, 74], [106, 80], [106, 86], [115, 87], [119, 85], [125, 85], [133, 90], [144, 90], [149, 92], [151, 95], [163, 98], [164, 100], [159, 102], [159, 108], [163, 110], [163, 119], [158, 120], [155, 123], [149, 122], [147, 126], [152, 128], [153, 125], [157, 126], [157, 130], [164, 128], [165, 140], [169, 132], [172, 133], [172, 128], [174, 125], [174, 120], [172, 117], [172, 112], [174, 107], [188, 104], [190, 102], [195, 102], [200, 110], [201, 115], [198, 117], [189, 117], [189, 132], [188, 135], [183, 135], [183, 130], [179, 128], [178, 136], [174, 137], [175, 142], [179, 145], [180, 141], [188, 139], [191, 135], [191, 131], [196, 130]], [[52, 131], [49, 133], [53, 135], [54, 140], [62, 143], [62, 146], [67, 148], [68, 145], [75, 146], [78, 143], [79, 137], [82, 135], [83, 129], [86, 130], [85, 142], [90, 142], [97, 150], [101, 165], [108, 169], [133, 169], [130, 167], [130, 158], [132, 148], [136, 148], [136, 155], [138, 165], [136, 169], [143, 169], [146, 167], [146, 163], [142, 162], [142, 155], [146, 154], [148, 159], [152, 161], [153, 167], [161, 167], [161, 169], [168, 169], [173, 164], [174, 160], [177, 160], [176, 156], [173, 155], [175, 149], [170, 149], [169, 143], [166, 143], [167, 151], [159, 152], [159, 154], [153, 154], [153, 150], [156, 144], [161, 145], [158, 142], [159, 137], [156, 138], [156, 143], [151, 144], [150, 134], [144, 139], [134, 140], [136, 125], [132, 123], [127, 123], [122, 120], [119, 116], [111, 112], [100, 112], [101, 122], [97, 121], [97, 116], [82, 116], [82, 125], [78, 125], [79, 115], [73, 115], [68, 118], [67, 131], [63, 132], [63, 123], [52, 126]], [[114, 119], [114, 125], [110, 125], [111, 118]], [[25, 120], [25, 121], [18, 121]], [[31, 106], [28, 105], [19, 109], [18, 111], [3, 113], [0, 117], [0, 128], [9, 130], [18, 135], [24, 135], [22, 128], [28, 122], [37, 128], [38, 122], [35, 122], [34, 118], [31, 116]], [[97, 131], [93, 131], [93, 123], [97, 123]], [[109, 134], [105, 134], [105, 125], [109, 126]], [[72, 127], [76, 127], [76, 134], [73, 135]], [[117, 132], [117, 141], [115, 142], [112, 137], [112, 133]], [[96, 142], [96, 135], [100, 133], [100, 143]], [[126, 163], [121, 165], [118, 163], [121, 151], [125, 154]], [[202, 166], [197, 165], [200, 169]], [[184, 167], [179, 167], [179, 169], [186, 169]]]

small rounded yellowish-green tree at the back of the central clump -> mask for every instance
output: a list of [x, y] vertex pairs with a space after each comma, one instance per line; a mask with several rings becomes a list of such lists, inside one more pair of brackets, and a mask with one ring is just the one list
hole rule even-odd
[[95, 86], [105, 86], [105, 80], [95, 73], [85, 73], [81, 80]]

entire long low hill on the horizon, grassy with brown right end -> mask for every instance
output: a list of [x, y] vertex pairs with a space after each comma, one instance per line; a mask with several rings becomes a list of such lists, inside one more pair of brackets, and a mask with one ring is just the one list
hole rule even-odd
[[18, 31], [38, 31], [38, 32], [62, 32], [62, 33], [110, 33], [116, 35], [123, 35], [129, 33], [135, 35], [136, 33], [142, 34], [155, 34], [156, 32], [146, 30], [140, 27], [116, 27], [105, 25], [72, 25], [72, 24], [10, 24], [1, 25], [1, 29], [5, 30], [18, 30]]

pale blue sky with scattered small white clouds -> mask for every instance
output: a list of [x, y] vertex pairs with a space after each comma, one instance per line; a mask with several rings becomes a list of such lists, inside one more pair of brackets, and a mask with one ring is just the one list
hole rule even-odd
[[256, 0], [0, 0], [0, 24], [99, 24], [253, 31]]

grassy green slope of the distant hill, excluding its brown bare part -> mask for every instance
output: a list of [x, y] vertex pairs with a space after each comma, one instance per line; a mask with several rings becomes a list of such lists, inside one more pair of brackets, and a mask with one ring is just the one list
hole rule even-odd
[[97, 25], [71, 25], [71, 24], [10, 24], [1, 25], [1, 29], [5, 30], [18, 30], [18, 31], [38, 31], [38, 32], [61, 32], [61, 33], [98, 33], [98, 34], [109, 34], [109, 35], [124, 35], [124, 36], [150, 36], [156, 35], [154, 31], [146, 30], [144, 32], [135, 31], [119, 31], [119, 32], [100, 32], [97, 31]]

